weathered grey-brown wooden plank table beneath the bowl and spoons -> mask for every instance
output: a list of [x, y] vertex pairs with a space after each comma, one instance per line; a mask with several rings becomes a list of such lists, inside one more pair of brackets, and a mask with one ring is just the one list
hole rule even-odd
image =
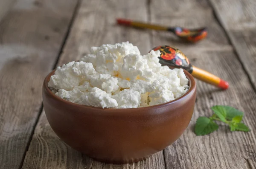
[[[17, 0], [0, 16], [0, 169], [255, 169], [255, 9], [254, 0]], [[209, 36], [186, 44], [166, 32], [115, 25], [116, 17], [207, 26]], [[93, 161], [55, 135], [41, 87], [57, 65], [79, 59], [91, 46], [123, 41], [137, 45], [142, 54], [157, 45], [176, 46], [230, 88], [222, 91], [197, 81], [195, 111], [184, 134], [144, 161], [113, 165]], [[196, 136], [195, 120], [211, 115], [209, 107], [218, 104], [244, 111], [251, 131], [230, 132], [223, 125]]]

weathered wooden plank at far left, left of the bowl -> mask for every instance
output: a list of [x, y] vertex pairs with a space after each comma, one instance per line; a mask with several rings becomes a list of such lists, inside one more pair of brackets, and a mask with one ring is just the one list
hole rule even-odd
[[75, 0], [18, 0], [0, 23], [0, 168], [18, 168]]

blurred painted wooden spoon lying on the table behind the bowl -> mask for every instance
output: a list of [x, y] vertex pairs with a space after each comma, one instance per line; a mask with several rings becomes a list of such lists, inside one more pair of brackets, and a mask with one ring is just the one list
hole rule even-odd
[[177, 37], [185, 39], [189, 42], [198, 42], [201, 39], [207, 37], [207, 28], [198, 28], [198, 29], [186, 29], [181, 27], [166, 27], [160, 25], [152, 25], [148, 23], [141, 23], [132, 20], [125, 20], [118, 18], [116, 22], [120, 25], [133, 26], [137, 28], [148, 28], [160, 31], [169, 31], [174, 33]]

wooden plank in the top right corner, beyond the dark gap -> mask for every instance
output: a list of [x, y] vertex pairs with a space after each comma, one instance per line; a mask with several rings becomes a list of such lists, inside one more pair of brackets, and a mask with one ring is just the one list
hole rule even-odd
[[[256, 89], [255, 0], [209, 0]], [[231, 5], [232, 4], [232, 5]]]

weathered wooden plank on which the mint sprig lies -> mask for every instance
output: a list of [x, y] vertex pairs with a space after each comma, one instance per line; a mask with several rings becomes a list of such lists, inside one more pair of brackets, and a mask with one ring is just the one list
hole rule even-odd
[[[227, 4], [232, 8], [233, 1], [230, 0]], [[156, 8], [159, 10], [155, 10]], [[164, 150], [166, 167], [168, 169], [254, 168], [256, 166], [254, 132], [256, 93], [207, 1], [152, 0], [151, 21], [189, 28], [207, 26], [209, 37], [195, 45], [177, 42], [174, 36], [155, 31], [152, 38], [153, 45], [175, 46], [189, 57], [192, 64], [230, 83], [228, 90], [221, 91], [197, 81], [197, 102], [192, 121], [180, 139]], [[244, 122], [252, 131], [230, 132], [227, 126], [220, 126], [217, 132], [210, 135], [196, 136], [193, 132], [196, 119], [199, 116], [211, 115], [209, 107], [217, 104], [230, 105], [244, 111]]]

